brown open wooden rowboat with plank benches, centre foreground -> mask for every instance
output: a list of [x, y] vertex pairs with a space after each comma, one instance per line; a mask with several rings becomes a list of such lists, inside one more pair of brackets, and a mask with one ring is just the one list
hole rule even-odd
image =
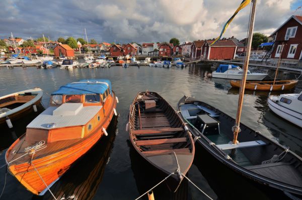
[[192, 165], [195, 147], [187, 126], [155, 92], [139, 92], [130, 106], [129, 138], [138, 154], [167, 179], [175, 192]]

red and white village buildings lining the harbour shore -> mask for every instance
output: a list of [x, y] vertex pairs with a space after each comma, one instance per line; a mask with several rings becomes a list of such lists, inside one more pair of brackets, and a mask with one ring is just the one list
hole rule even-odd
[[[43, 38], [45, 39], [45, 38]], [[64, 41], [46, 41], [40, 40], [24, 40], [23, 38], [5, 38], [6, 47], [1, 46], [1, 51], [8, 53], [24, 53], [24, 54], [53, 54], [56, 57], [67, 56], [74, 57], [83, 53], [94, 53], [117, 56], [179, 56], [190, 57], [196, 59], [235, 59], [238, 56], [245, 55], [246, 39], [238, 40], [236, 37], [222, 38], [214, 45], [209, 46], [214, 40], [203, 39], [183, 43], [170, 42], [142, 42], [142, 43], [96, 43], [87, 44], [87, 42], [79, 38], [72, 41], [72, 45], [68, 45]], [[67, 40], [68, 40], [67, 39]], [[174, 38], [176, 39], [176, 38]], [[63, 39], [64, 40], [64, 39]], [[67, 41], [66, 40], [66, 41]], [[31, 45], [23, 45], [25, 42], [31, 41]], [[270, 58], [271, 62], [276, 62], [281, 54], [282, 60], [285, 63], [301, 62], [302, 59], [302, 17], [291, 16], [280, 27], [277, 28], [266, 41], [260, 42], [254, 46], [252, 53], [261, 54], [261, 58]]]

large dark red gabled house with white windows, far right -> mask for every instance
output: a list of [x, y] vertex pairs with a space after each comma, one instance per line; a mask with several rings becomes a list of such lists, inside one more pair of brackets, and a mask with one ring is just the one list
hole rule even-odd
[[272, 36], [275, 36], [270, 59], [272, 64], [278, 62], [280, 55], [283, 63], [295, 64], [302, 59], [302, 16], [291, 16]]

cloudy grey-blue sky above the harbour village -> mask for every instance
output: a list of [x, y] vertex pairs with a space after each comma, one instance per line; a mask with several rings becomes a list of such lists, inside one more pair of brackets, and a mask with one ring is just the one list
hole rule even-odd
[[[242, 0], [0, 0], [0, 38], [84, 37], [98, 42], [162, 42], [217, 37]], [[271, 34], [302, 0], [257, 0], [255, 32]], [[224, 37], [246, 36], [250, 6]], [[302, 14], [298, 11], [295, 14]]]

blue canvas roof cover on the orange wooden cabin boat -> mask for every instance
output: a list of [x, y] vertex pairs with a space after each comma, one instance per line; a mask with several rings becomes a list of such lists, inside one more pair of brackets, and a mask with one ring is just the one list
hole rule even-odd
[[108, 88], [107, 85], [112, 92], [111, 82], [107, 79], [85, 79], [61, 86], [51, 95], [104, 94]]

